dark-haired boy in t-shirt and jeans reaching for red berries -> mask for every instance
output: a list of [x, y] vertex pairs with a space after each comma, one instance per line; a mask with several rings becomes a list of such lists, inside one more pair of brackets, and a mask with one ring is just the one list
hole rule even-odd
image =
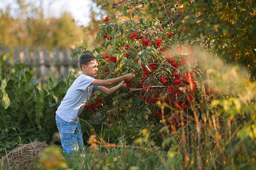
[[[67, 90], [67, 94], [61, 101], [56, 111], [56, 125], [60, 133], [63, 152], [71, 155], [72, 152], [81, 150], [83, 145], [81, 125], [78, 116], [83, 111], [84, 105], [90, 99], [92, 92], [99, 89], [105, 94], [113, 94], [121, 87], [125, 86], [123, 80], [132, 80], [134, 74], [129, 73], [117, 78], [107, 80], [95, 79], [98, 72], [96, 57], [86, 53], [79, 58], [79, 67], [83, 71], [74, 83]], [[106, 85], [111, 85], [121, 81], [115, 87], [108, 89]]]

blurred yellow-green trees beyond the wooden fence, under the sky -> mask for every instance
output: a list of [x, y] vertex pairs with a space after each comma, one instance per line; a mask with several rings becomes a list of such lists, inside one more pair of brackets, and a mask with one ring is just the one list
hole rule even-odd
[[84, 43], [84, 28], [74, 22], [70, 13], [60, 18], [45, 18], [41, 6], [17, 1], [17, 16], [10, 15], [10, 6], [0, 13], [0, 45], [9, 46], [80, 46]]

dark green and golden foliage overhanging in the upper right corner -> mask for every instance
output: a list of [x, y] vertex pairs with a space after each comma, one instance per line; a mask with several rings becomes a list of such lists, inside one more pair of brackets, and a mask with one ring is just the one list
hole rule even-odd
[[[255, 1], [95, 1], [120, 22], [124, 18], [157, 18], [162, 27], [171, 24], [181, 42], [205, 46], [228, 62], [255, 66]], [[120, 15], [122, 13], [122, 15]], [[239, 41], [237, 41], [239, 39]]]

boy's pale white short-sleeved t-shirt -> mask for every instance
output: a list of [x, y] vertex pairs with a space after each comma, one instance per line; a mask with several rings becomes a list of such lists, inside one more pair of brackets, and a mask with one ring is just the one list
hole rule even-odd
[[82, 113], [92, 92], [100, 88], [99, 85], [92, 85], [94, 80], [95, 78], [85, 74], [80, 74], [76, 78], [56, 111], [58, 117], [70, 123], [79, 121], [78, 116]]

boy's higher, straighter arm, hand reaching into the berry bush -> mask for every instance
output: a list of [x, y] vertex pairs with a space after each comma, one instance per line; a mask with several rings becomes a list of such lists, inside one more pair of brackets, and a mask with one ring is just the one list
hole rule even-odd
[[129, 74], [125, 74], [124, 76], [120, 76], [120, 77], [116, 77], [116, 78], [109, 78], [107, 80], [95, 79], [92, 82], [92, 85], [106, 86], [106, 85], [111, 85], [113, 83], [117, 83], [117, 82], [122, 81], [122, 80], [132, 80], [132, 78], [134, 78], [134, 74], [133, 73], [129, 73]]

